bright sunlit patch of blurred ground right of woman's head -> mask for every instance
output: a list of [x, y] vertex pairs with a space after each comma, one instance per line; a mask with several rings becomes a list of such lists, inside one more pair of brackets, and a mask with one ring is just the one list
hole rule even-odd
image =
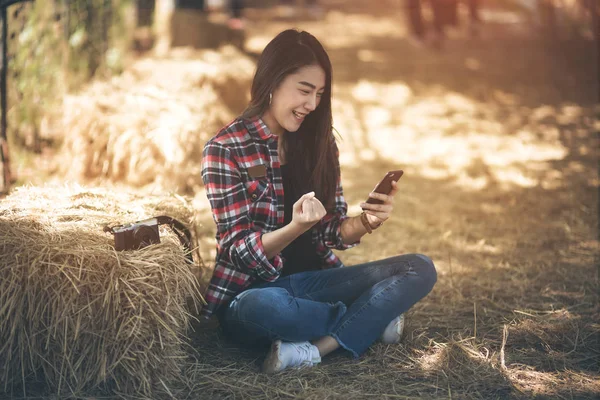
[[[524, 119], [527, 111], [505, 116], [498, 107], [514, 108], [519, 99], [498, 90], [494, 98], [500, 105], [494, 106], [441, 87], [417, 97], [402, 82], [361, 80], [335, 90], [336, 128], [344, 138], [342, 165], [385, 159], [411, 165], [429, 179], [451, 179], [471, 191], [490, 184], [506, 189], [560, 187], [563, 174], [550, 162], [563, 159], [568, 150], [560, 130], [545, 122], [582, 117], [580, 108], [571, 105], [541, 106], [531, 111], [529, 123]], [[587, 146], [579, 151], [590, 152]]]

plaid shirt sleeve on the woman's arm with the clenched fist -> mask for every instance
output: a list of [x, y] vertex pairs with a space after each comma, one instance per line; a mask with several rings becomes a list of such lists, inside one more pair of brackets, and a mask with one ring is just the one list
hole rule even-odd
[[240, 271], [265, 281], [279, 277], [280, 256], [267, 259], [262, 232], [249, 212], [251, 201], [231, 151], [220, 143], [208, 142], [202, 155], [202, 180], [217, 224], [218, 247]]

